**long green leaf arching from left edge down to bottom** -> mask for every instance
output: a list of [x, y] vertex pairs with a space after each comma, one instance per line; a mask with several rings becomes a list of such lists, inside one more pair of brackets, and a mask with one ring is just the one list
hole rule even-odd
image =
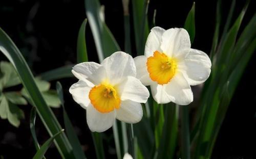
[[[47, 128], [50, 136], [58, 133], [62, 128], [58, 123], [55, 115], [49, 107], [47, 107], [46, 101], [42, 97], [38, 87], [36, 86], [34, 77], [29, 69], [24, 57], [9, 38], [9, 36], [0, 28], [0, 50], [13, 64], [17, 73], [22, 80], [22, 83], [28, 91], [33, 105], [37, 108], [37, 113]], [[74, 154], [71, 145], [65, 134], [61, 134], [56, 137], [56, 147], [59, 150], [60, 155], [63, 158], [74, 158]]]

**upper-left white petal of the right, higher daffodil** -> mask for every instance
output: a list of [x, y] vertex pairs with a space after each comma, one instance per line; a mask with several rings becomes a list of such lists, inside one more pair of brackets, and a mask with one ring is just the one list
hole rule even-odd
[[150, 34], [148, 35], [146, 39], [146, 45], [145, 45], [145, 56], [150, 57], [154, 54], [154, 51], [158, 50], [161, 52], [161, 41], [162, 41], [162, 35], [164, 33], [164, 29], [156, 26], [151, 29]]

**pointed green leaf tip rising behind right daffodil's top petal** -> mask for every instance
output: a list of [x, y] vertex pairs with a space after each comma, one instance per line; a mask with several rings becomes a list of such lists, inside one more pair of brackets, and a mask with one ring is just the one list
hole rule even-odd
[[196, 24], [195, 24], [195, 2], [191, 10], [188, 12], [187, 18], [185, 20], [184, 29], [187, 30], [190, 42], [193, 43], [196, 35]]

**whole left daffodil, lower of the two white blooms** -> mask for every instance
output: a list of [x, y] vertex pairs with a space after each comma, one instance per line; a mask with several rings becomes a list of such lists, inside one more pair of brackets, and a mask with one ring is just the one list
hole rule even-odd
[[91, 131], [109, 129], [115, 119], [137, 123], [143, 116], [140, 103], [150, 96], [136, 78], [133, 58], [125, 52], [115, 52], [101, 64], [84, 62], [73, 67], [79, 81], [70, 87], [74, 100], [86, 109]]

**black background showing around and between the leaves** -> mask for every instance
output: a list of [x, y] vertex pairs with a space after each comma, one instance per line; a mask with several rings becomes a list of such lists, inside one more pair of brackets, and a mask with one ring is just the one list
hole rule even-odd
[[[196, 2], [196, 37], [193, 48], [210, 52], [212, 35], [215, 28], [216, 1]], [[237, 1], [233, 21], [244, 6], [244, 1]], [[123, 11], [121, 0], [101, 1], [105, 6], [105, 22], [112, 31], [121, 49], [124, 50]], [[148, 10], [148, 21], [152, 22], [154, 9], [157, 9], [156, 25], [164, 29], [184, 24], [193, 1], [151, 1]], [[225, 23], [231, 1], [223, 1], [222, 25]], [[248, 7], [241, 28], [244, 28], [255, 13], [255, 1]], [[131, 9], [131, 6], [130, 6]], [[12, 38], [22, 51], [33, 73], [39, 74], [66, 64], [76, 63], [76, 40], [83, 19], [86, 18], [84, 2], [71, 0], [32, 1], [1, 0], [0, 27]], [[131, 16], [132, 18], [132, 16]], [[132, 19], [131, 19], [132, 22]], [[133, 25], [131, 25], [133, 27]], [[133, 30], [133, 28], [132, 28]], [[131, 32], [134, 43], [133, 31]], [[89, 60], [97, 62], [97, 54], [89, 25], [87, 25], [87, 49]], [[135, 56], [135, 47], [133, 55]], [[7, 59], [1, 54], [1, 61]], [[226, 118], [222, 124], [212, 158], [256, 158], [256, 62], [255, 54], [250, 59], [236, 93], [231, 100]], [[66, 108], [77, 131], [83, 150], [89, 158], [95, 158], [94, 146], [88, 129], [84, 111], [76, 104], [68, 93], [75, 78], [60, 80], [63, 85]], [[51, 82], [55, 88], [56, 81]], [[15, 88], [21, 89], [21, 87]], [[19, 128], [10, 125], [7, 120], [0, 119], [0, 155], [4, 158], [32, 158], [35, 153], [30, 128], [30, 105], [20, 107], [25, 111], [26, 119]], [[62, 110], [53, 109], [62, 123]], [[39, 143], [44, 143], [48, 133], [41, 121], [36, 120]], [[104, 134], [106, 156], [116, 157], [112, 129]], [[46, 156], [60, 158], [56, 148], [52, 146]]]

